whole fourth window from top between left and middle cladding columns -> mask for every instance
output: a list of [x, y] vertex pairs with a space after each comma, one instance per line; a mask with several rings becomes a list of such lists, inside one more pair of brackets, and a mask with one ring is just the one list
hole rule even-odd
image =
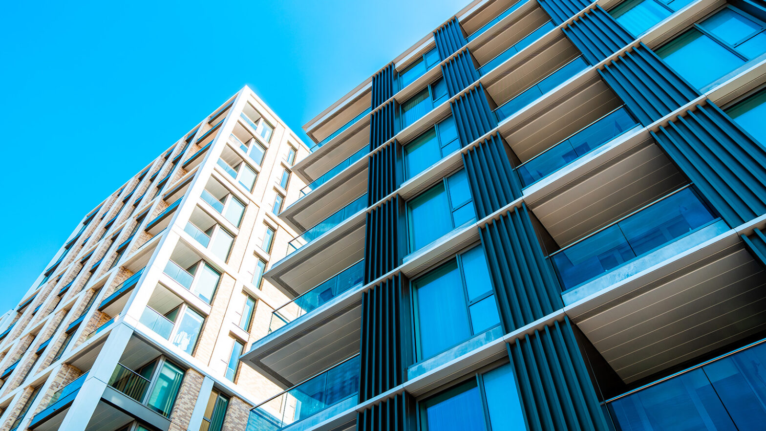
[[410, 252], [476, 219], [464, 170], [411, 199], [407, 208]]

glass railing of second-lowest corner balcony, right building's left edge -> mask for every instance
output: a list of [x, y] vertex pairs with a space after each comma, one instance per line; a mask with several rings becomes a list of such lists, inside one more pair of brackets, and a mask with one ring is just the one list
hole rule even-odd
[[316, 310], [316, 308], [326, 304], [332, 298], [336, 298], [339, 294], [361, 286], [364, 280], [365, 261], [362, 259], [300, 295], [298, 298], [293, 299], [293, 301], [272, 311], [269, 332], [276, 331], [280, 327], [295, 321], [298, 317]]

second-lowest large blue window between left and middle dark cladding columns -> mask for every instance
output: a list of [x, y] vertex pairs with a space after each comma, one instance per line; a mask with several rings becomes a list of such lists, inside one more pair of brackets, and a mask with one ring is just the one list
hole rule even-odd
[[483, 248], [413, 282], [417, 357], [427, 359], [500, 323]]

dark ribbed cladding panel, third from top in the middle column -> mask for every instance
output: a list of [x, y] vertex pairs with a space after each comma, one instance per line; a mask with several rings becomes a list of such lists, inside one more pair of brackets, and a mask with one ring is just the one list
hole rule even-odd
[[476, 85], [450, 102], [450, 110], [463, 146], [497, 127], [497, 117], [489, 107], [486, 90], [482, 84]]

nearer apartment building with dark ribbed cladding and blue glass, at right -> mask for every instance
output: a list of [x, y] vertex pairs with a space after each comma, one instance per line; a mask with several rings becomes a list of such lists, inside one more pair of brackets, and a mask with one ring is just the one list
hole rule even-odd
[[764, 429], [764, 29], [476, 0], [310, 120], [247, 431]]

